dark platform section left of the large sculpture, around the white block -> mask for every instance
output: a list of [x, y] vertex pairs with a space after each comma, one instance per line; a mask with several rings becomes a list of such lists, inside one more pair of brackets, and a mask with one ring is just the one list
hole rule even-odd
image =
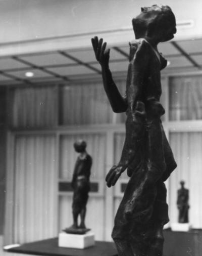
[[95, 245], [85, 249], [65, 248], [58, 246], [58, 237], [25, 243], [7, 250], [42, 256], [117, 256], [113, 242], [95, 241]]

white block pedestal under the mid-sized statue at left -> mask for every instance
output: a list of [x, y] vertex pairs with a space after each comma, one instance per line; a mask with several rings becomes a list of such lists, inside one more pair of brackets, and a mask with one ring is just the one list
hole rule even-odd
[[83, 249], [94, 245], [94, 233], [91, 231], [84, 235], [60, 233], [58, 244], [60, 247]]

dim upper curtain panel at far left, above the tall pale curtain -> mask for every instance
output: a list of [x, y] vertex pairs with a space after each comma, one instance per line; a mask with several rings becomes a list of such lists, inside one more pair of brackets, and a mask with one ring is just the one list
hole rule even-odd
[[57, 88], [16, 88], [10, 94], [13, 127], [48, 127], [57, 124]]

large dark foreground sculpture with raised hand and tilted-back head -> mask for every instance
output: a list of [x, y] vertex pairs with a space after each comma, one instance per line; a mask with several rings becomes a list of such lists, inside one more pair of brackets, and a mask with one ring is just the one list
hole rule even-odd
[[160, 104], [160, 70], [167, 65], [157, 45], [176, 33], [175, 16], [168, 6], [141, 8], [132, 20], [136, 40], [130, 45], [126, 95], [122, 97], [109, 69], [106, 42], [92, 38], [102, 67], [104, 88], [114, 112], [126, 112], [126, 138], [120, 162], [107, 177], [114, 186], [127, 168], [130, 180], [115, 217], [112, 237], [119, 256], [161, 256], [163, 226], [169, 221], [164, 181], [176, 168], [166, 139]]

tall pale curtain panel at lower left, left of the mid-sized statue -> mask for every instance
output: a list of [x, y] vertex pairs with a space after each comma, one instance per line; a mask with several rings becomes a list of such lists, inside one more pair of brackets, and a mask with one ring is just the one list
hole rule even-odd
[[14, 243], [57, 235], [55, 161], [54, 136], [16, 137]]

